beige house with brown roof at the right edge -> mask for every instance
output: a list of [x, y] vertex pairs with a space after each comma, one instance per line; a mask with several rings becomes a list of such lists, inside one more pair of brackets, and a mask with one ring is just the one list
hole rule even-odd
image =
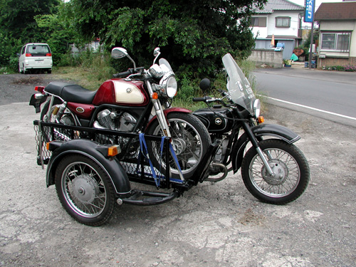
[[318, 66], [356, 66], [356, 1], [323, 3], [319, 24]]

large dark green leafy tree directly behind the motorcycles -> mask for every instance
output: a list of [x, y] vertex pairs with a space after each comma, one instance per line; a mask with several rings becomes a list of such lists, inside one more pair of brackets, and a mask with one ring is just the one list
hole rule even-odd
[[[266, 0], [71, 0], [67, 18], [88, 40], [100, 38], [109, 48], [124, 46], [140, 64], [162, 54], [174, 70], [212, 75], [221, 56], [241, 59], [254, 46], [249, 18]], [[85, 12], [83, 12], [85, 11]]]

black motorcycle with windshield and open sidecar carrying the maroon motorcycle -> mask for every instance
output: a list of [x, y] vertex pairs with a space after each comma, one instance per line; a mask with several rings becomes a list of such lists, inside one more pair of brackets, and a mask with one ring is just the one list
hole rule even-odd
[[[200, 182], [219, 182], [230, 170], [236, 172], [240, 167], [247, 189], [261, 201], [286, 204], [300, 197], [309, 181], [308, 162], [293, 145], [300, 137], [286, 127], [261, 125], [260, 102], [248, 80], [230, 54], [223, 57], [223, 63], [228, 82], [222, 97], [194, 98], [219, 105], [189, 114], [205, 125], [199, 130], [204, 134], [197, 134], [192, 123], [185, 120], [170, 120], [169, 112], [162, 112], [164, 122], [157, 118], [151, 122], [155, 123], [151, 131], [88, 127], [56, 118], [33, 122], [38, 164], [48, 164], [47, 186], [56, 185], [68, 214], [82, 224], [99, 226], [110, 219], [115, 204], [163, 204]], [[140, 75], [132, 75], [137, 73], [129, 70], [125, 81], [159, 73], [159, 68], [154, 68], [151, 72], [139, 70]], [[209, 81], [202, 80], [201, 88], [206, 91]], [[151, 89], [151, 93], [162, 93], [163, 88]], [[49, 90], [53, 93], [51, 87]], [[48, 94], [46, 88], [41, 94]], [[44, 102], [38, 96], [33, 99], [37, 108]], [[56, 116], [53, 101], [48, 104], [47, 117]], [[62, 115], [72, 116], [66, 109], [62, 108]], [[184, 151], [190, 154], [184, 156]], [[229, 164], [232, 167], [228, 169]], [[187, 167], [188, 174], [184, 173]], [[168, 192], [132, 189], [131, 182]]]

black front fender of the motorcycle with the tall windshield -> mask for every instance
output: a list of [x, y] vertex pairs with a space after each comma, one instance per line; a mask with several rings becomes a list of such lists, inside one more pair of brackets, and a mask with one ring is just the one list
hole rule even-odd
[[[251, 127], [253, 134], [258, 137], [276, 137], [281, 139], [288, 144], [292, 144], [300, 140], [300, 136], [297, 135], [292, 130], [288, 129], [287, 127], [281, 125], [273, 125], [273, 124], [263, 124], [263, 125], [256, 125]], [[231, 155], [232, 155], [232, 167], [234, 169], [234, 173], [237, 172], [242, 164], [242, 159], [244, 159], [244, 150], [248, 143], [248, 137], [246, 133], [241, 135], [239, 140], [235, 143]]]

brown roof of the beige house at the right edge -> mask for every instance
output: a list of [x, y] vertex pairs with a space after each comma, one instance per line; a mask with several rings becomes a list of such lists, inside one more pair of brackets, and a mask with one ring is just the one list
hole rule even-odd
[[315, 21], [356, 19], [356, 1], [322, 3], [315, 12]]

